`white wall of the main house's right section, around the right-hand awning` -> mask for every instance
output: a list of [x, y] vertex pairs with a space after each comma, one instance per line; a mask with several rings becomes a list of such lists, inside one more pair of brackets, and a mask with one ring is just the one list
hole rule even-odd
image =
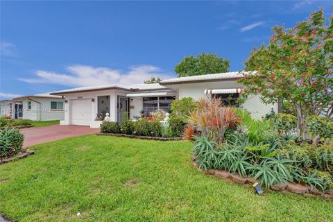
[[[230, 88], [241, 88], [242, 85], [236, 83], [235, 81], [220, 81], [213, 83], [186, 83], [178, 85], [170, 85], [171, 88], [178, 89], [179, 99], [183, 97], [191, 96], [193, 99], [198, 100], [200, 98], [211, 98], [211, 95], [205, 94], [205, 89], [230, 89]], [[273, 109], [274, 112], [278, 112], [278, 103], [265, 105], [260, 101], [260, 96], [248, 96], [247, 101], [241, 108], [248, 110], [251, 116], [255, 119], [261, 119], [268, 112]]]

